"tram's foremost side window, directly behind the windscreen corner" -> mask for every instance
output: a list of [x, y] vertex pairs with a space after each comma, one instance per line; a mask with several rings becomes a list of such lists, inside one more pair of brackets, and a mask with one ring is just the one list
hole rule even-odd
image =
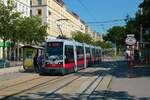
[[73, 53], [73, 46], [66, 45], [65, 46], [65, 63], [72, 63], [74, 62], [74, 53]]

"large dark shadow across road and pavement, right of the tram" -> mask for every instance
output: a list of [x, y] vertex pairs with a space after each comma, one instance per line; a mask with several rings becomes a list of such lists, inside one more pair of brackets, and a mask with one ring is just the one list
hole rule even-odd
[[[104, 61], [99, 65], [92, 67], [111, 68], [110, 72], [114, 77], [129, 78], [130, 77], [130, 66], [129, 62], [121, 61]], [[148, 67], [132, 67], [132, 78], [139, 77], [150, 77], [150, 66]]]

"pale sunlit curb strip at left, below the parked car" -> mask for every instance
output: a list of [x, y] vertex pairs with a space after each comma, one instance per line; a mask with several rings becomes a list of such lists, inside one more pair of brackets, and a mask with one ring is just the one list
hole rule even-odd
[[0, 69], [0, 75], [23, 71], [23, 66], [9, 67]]

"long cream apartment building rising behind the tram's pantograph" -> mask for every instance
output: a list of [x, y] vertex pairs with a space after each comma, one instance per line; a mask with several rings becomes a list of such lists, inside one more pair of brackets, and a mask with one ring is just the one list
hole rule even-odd
[[65, 35], [71, 37], [71, 32], [85, 32], [85, 24], [80, 17], [69, 12], [63, 0], [32, 0], [32, 15], [41, 16], [43, 23], [47, 23], [47, 33], [51, 37]]

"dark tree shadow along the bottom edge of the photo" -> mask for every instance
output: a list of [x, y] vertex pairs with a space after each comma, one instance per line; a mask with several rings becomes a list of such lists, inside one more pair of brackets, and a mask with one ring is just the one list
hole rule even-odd
[[[105, 93], [108, 93], [104, 97]], [[28, 95], [34, 95], [34, 100], [36, 100], [36, 97], [42, 97], [43, 100], [150, 100], [150, 97], [135, 97], [132, 95], [129, 95], [127, 91], [95, 91], [92, 96], [87, 96], [89, 94], [83, 94], [82, 98], [79, 98], [79, 94], [59, 94], [54, 93], [53, 95], [50, 95], [46, 92], [39, 92], [39, 93], [28, 93]], [[33, 100], [32, 97], [29, 97], [28, 95], [21, 95], [18, 97], [12, 97], [11, 100]], [[41, 99], [41, 100], [42, 100]], [[9, 99], [6, 99], [9, 100]]]

